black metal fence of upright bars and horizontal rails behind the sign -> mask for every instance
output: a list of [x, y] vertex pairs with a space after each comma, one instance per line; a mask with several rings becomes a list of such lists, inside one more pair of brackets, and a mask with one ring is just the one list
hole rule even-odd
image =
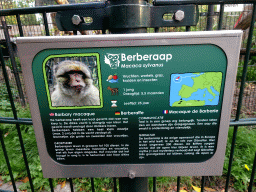
[[[225, 191], [227, 192], [229, 189], [229, 182], [230, 182], [231, 171], [232, 171], [232, 162], [233, 162], [234, 151], [235, 151], [235, 146], [236, 146], [235, 143], [236, 143], [237, 131], [239, 129], [239, 126], [256, 125], [256, 118], [240, 119], [240, 114], [242, 111], [243, 97], [244, 97], [243, 94], [244, 94], [245, 84], [246, 84], [246, 74], [247, 74], [248, 64], [249, 64], [249, 60], [250, 60], [250, 53], [252, 52], [251, 47], [252, 47], [252, 40], [253, 40], [254, 23], [255, 23], [255, 18], [256, 18], [256, 2], [254, 0], [247, 0], [247, 1], [239, 1], [239, 0], [219, 0], [219, 1], [217, 1], [217, 0], [200, 0], [200, 1], [198, 1], [198, 0], [194, 0], [194, 1], [193, 0], [180, 0], [180, 1], [155, 0], [154, 1], [154, 5], [156, 5], [156, 6], [157, 5], [187, 5], [187, 4], [208, 5], [208, 12], [206, 14], [203, 14], [203, 13], [201, 14], [201, 18], [207, 17], [206, 26], [194, 27], [195, 29], [198, 27], [199, 29], [204, 28], [206, 30], [212, 30], [214, 28], [213, 22], [212, 22], [213, 18], [215, 18], [215, 20], [218, 20], [217, 30], [223, 29], [224, 23], [225, 23], [225, 25], [227, 25], [228, 21], [224, 20], [224, 3], [251, 3], [253, 5], [252, 19], [251, 19], [249, 32], [248, 32], [248, 39], [247, 39], [246, 47], [245, 47], [245, 49], [243, 49], [243, 53], [242, 53], [242, 55], [244, 55], [244, 57], [243, 57], [244, 65], [243, 65], [243, 73], [242, 73], [241, 83], [240, 83], [239, 97], [237, 100], [237, 109], [236, 109], [235, 118], [232, 119], [230, 122], [230, 126], [234, 126], [234, 132], [233, 132], [233, 139], [232, 139], [232, 145], [231, 145], [231, 153], [230, 153], [230, 157], [229, 157], [228, 173], [226, 175]], [[218, 12], [218, 13], [214, 12], [212, 4], [220, 4], [220, 12]], [[12, 66], [13, 66], [13, 73], [15, 75], [15, 80], [17, 83], [18, 91], [19, 91], [19, 97], [21, 98], [21, 103], [23, 105], [26, 104], [26, 101], [25, 101], [26, 99], [25, 99], [24, 92], [23, 92], [23, 86], [20, 83], [21, 80], [19, 78], [19, 71], [17, 69], [17, 64], [15, 61], [15, 54], [14, 54], [12, 44], [11, 44], [11, 37], [9, 35], [9, 30], [8, 30], [8, 26], [7, 26], [8, 23], [5, 22], [4, 17], [5, 16], [15, 16], [16, 17], [19, 36], [23, 37], [24, 36], [24, 26], [22, 26], [20, 16], [25, 15], [25, 14], [40, 13], [40, 14], [42, 14], [42, 17], [43, 17], [43, 25], [44, 25], [45, 35], [50, 36], [50, 35], [52, 35], [52, 33], [50, 32], [50, 29], [49, 29], [50, 24], [48, 23], [48, 20], [47, 20], [47, 13], [66, 11], [66, 10], [76, 10], [76, 9], [81, 10], [84, 7], [86, 7], [85, 5], [86, 4], [61, 5], [61, 6], [55, 5], [55, 6], [44, 6], [44, 7], [36, 7], [36, 8], [19, 8], [19, 9], [10, 9], [10, 10], [1, 10], [0, 11], [0, 16], [2, 17], [2, 26], [4, 29], [4, 36], [5, 36], [8, 51], [10, 54], [10, 60], [11, 60]], [[97, 8], [101, 8], [101, 7], [104, 7], [104, 3], [102, 3], [102, 2], [95, 3], [93, 6], [95, 6]], [[202, 23], [199, 23], [199, 25], [202, 25]], [[191, 30], [191, 28], [192, 27], [187, 26], [186, 31]], [[154, 31], [158, 31], [158, 32], [165, 31], [165, 30], [166, 30], [166, 28], [155, 28], [154, 29]], [[175, 28], [174, 31], [175, 30], [177, 30], [177, 28]], [[148, 29], [148, 31], [150, 31], [150, 29]], [[74, 31], [74, 34], [76, 34], [76, 31]], [[1, 61], [1, 65], [2, 65], [2, 72], [3, 72], [3, 76], [4, 76], [4, 80], [5, 80], [5, 85], [7, 88], [7, 92], [9, 95], [9, 101], [10, 101], [11, 109], [12, 109], [12, 113], [13, 113], [13, 117], [0, 117], [0, 123], [15, 124], [17, 132], [18, 132], [20, 146], [22, 149], [22, 155], [23, 155], [26, 170], [27, 170], [27, 175], [29, 178], [30, 188], [31, 188], [31, 191], [35, 191], [34, 186], [33, 186], [33, 180], [32, 180], [31, 174], [30, 174], [30, 170], [29, 170], [29, 164], [28, 164], [26, 150], [24, 148], [24, 143], [23, 143], [23, 138], [22, 138], [21, 128], [20, 128], [20, 125], [22, 125], [22, 124], [32, 125], [33, 123], [32, 123], [31, 119], [19, 118], [17, 115], [17, 110], [15, 108], [15, 101], [14, 101], [13, 93], [11, 91], [11, 86], [10, 86], [10, 82], [9, 82], [10, 80], [8, 78], [8, 73], [7, 73], [6, 67], [5, 67], [6, 61], [5, 61], [4, 55], [2, 53], [2, 48], [0, 49], [0, 59], [1, 59], [0, 61]], [[8, 151], [6, 150], [6, 146], [5, 146], [4, 139], [3, 139], [3, 133], [2, 133], [1, 129], [0, 129], [0, 141], [1, 141], [3, 154], [5, 156], [5, 160], [6, 160], [6, 163], [8, 166], [8, 170], [10, 173], [13, 189], [14, 189], [14, 191], [17, 191], [14, 177], [12, 174], [12, 169], [11, 169], [9, 158], [8, 158], [8, 154], [7, 154]], [[256, 166], [256, 153], [255, 153], [255, 159], [254, 159], [253, 169], [251, 172], [251, 179], [250, 179], [248, 191], [252, 191], [254, 175], [255, 175], [255, 166]], [[201, 191], [204, 191], [205, 178], [206, 178], [205, 176], [202, 176]], [[69, 178], [68, 181], [70, 182], [70, 190], [74, 191], [72, 179]], [[113, 182], [114, 182], [114, 191], [117, 191], [117, 179], [113, 178]], [[180, 191], [180, 182], [181, 182], [181, 177], [177, 177], [177, 191]], [[49, 184], [51, 187], [51, 191], [54, 191], [52, 179], [49, 179]], [[91, 178], [91, 191], [93, 191], [93, 192], [95, 191], [93, 178]], [[154, 191], [154, 192], [157, 191], [156, 177], [153, 178], [152, 191]]]

